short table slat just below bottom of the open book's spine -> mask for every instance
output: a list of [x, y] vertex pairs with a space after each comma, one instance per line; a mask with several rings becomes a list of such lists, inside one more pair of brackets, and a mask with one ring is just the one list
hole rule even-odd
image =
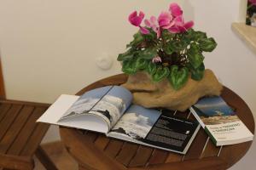
[[119, 150], [121, 150], [123, 144], [124, 144], [124, 142], [121, 140], [111, 139], [107, 148], [105, 149], [105, 153], [108, 156], [111, 156], [114, 158], [115, 156], [118, 155]]

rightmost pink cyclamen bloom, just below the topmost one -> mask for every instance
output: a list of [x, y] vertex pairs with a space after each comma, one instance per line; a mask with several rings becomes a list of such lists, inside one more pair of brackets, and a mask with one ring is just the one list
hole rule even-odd
[[179, 15], [173, 20], [173, 25], [168, 29], [172, 33], [183, 33], [194, 26], [194, 22], [184, 22], [183, 16]]

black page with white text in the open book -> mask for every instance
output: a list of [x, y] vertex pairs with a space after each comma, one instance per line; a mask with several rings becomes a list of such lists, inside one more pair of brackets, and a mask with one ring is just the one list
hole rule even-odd
[[170, 113], [171, 111], [162, 111], [162, 115], [143, 142], [184, 154], [189, 149], [200, 125], [198, 122], [173, 116]]

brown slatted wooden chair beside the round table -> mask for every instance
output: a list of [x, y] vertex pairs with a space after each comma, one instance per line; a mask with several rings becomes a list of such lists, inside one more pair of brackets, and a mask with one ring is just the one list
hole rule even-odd
[[49, 125], [36, 120], [49, 107], [5, 98], [0, 59], [0, 170], [33, 169], [36, 155], [46, 169], [57, 169], [39, 145]]

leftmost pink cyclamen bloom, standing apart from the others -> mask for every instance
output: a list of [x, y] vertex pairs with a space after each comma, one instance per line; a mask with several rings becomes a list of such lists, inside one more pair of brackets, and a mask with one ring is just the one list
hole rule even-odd
[[148, 29], [141, 26], [144, 16], [145, 16], [145, 14], [142, 11], [140, 11], [140, 13], [138, 15], [137, 15], [137, 11], [134, 11], [133, 13], [131, 13], [129, 15], [128, 20], [130, 21], [131, 25], [138, 26], [140, 28], [140, 31], [142, 32], [142, 34], [148, 34], [149, 33]]

